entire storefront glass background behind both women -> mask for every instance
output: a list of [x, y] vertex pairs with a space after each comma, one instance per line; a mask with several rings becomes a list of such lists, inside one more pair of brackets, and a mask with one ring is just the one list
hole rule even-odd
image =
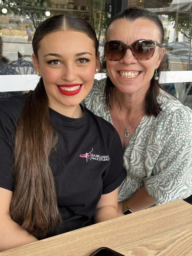
[[[87, 20], [97, 34], [102, 62], [105, 28], [111, 15], [127, 6], [147, 8], [156, 12], [162, 20], [165, 32], [165, 75], [168, 77], [165, 86], [182, 103], [192, 108], [191, 0], [0, 0], [0, 92], [13, 91], [10, 88], [11, 78], [6, 76], [2, 80], [4, 75], [23, 75], [14, 76], [14, 91], [23, 90], [20, 89], [21, 84], [22, 88], [28, 90], [26, 84], [36, 83], [33, 82], [31, 37], [40, 22], [57, 14], [74, 14]], [[27, 31], [30, 31], [31, 36], [27, 35]], [[184, 81], [177, 80], [175, 75], [167, 71], [177, 75], [183, 71], [179, 77], [185, 78]], [[176, 80], [172, 82], [170, 77]], [[24, 78], [25, 83], [22, 80]]]

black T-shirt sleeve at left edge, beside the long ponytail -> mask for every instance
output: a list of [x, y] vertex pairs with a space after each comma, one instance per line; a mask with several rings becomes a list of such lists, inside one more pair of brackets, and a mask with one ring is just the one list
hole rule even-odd
[[0, 187], [13, 191], [14, 180], [12, 171], [12, 129], [10, 118], [0, 110]]

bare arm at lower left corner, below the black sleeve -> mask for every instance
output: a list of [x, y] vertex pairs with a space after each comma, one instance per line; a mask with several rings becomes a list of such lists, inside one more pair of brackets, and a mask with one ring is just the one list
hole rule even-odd
[[0, 188], [0, 252], [38, 241], [10, 216], [12, 191]]

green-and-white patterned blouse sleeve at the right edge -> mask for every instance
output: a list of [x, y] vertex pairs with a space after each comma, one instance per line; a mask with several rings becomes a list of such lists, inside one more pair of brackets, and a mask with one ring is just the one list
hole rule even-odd
[[146, 146], [145, 165], [157, 154], [156, 164], [147, 173], [144, 186], [148, 194], [164, 204], [192, 194], [192, 112], [177, 109], [167, 115]]

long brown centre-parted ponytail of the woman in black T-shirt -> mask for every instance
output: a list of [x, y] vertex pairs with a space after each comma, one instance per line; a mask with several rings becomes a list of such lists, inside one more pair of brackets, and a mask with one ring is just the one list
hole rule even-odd
[[[58, 30], [85, 33], [93, 40], [97, 56], [98, 40], [91, 25], [77, 16], [60, 14], [44, 20], [36, 29], [32, 46], [37, 60], [42, 38]], [[57, 140], [57, 132], [49, 120], [49, 102], [41, 77], [27, 97], [14, 138], [15, 183], [10, 206], [12, 219], [37, 238], [43, 238], [62, 221], [49, 164]]]

